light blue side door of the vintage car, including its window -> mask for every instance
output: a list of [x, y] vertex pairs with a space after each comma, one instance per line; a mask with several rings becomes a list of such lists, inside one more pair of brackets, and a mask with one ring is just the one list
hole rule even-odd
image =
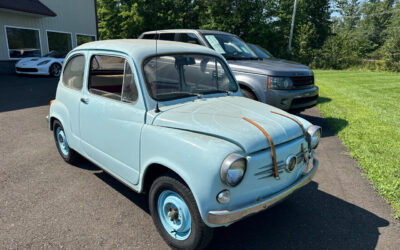
[[88, 81], [80, 103], [84, 151], [106, 171], [135, 185], [145, 119], [135, 66], [130, 58], [117, 53], [91, 53], [89, 58]]

